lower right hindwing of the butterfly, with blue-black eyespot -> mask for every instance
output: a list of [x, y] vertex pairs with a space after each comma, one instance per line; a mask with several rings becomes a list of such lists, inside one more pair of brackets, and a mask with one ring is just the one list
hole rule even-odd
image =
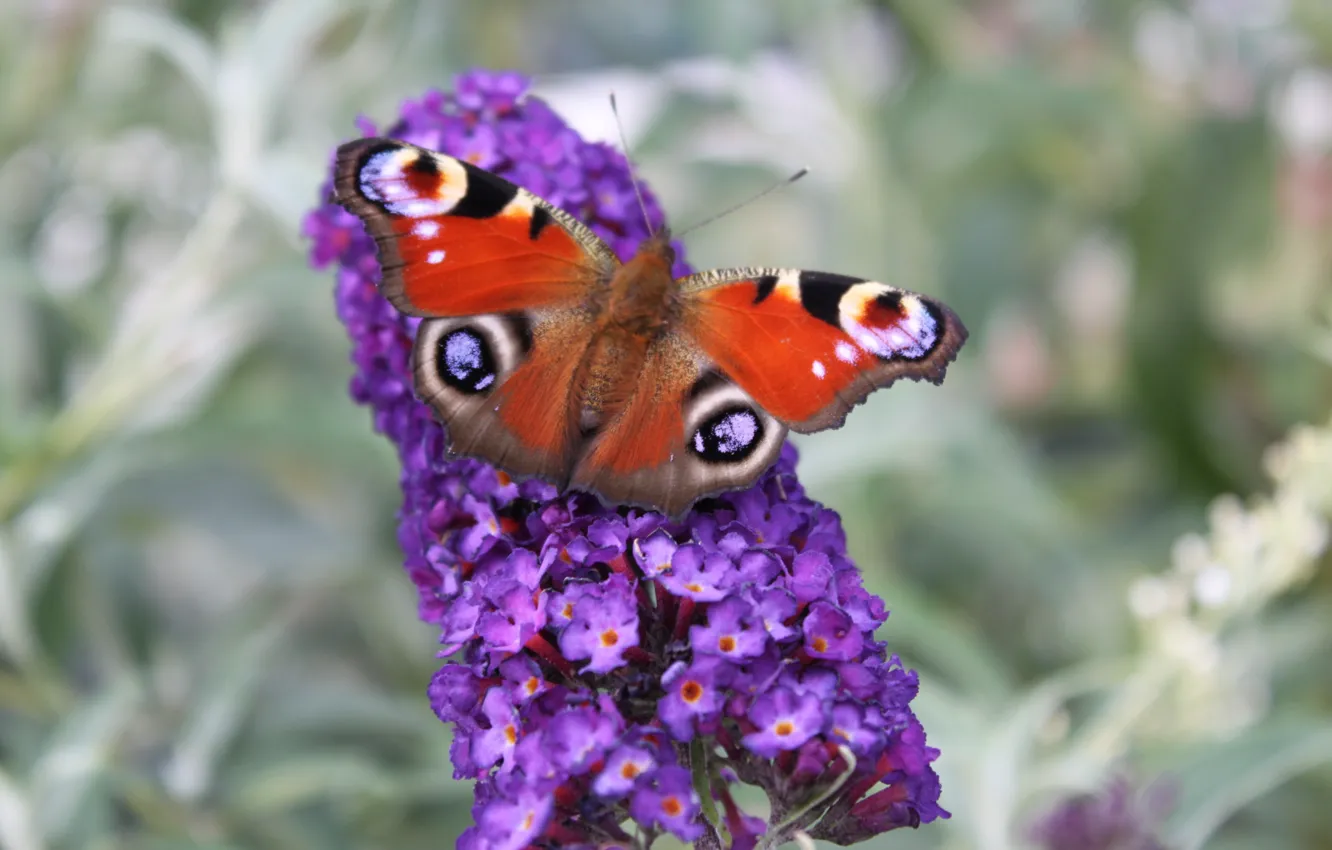
[[571, 486], [678, 514], [758, 478], [785, 437], [786, 428], [713, 369], [691, 340], [667, 333], [649, 348], [618, 416], [589, 441]]

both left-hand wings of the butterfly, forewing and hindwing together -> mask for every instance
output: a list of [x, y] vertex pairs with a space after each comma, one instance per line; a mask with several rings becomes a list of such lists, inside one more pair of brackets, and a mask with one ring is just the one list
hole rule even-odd
[[589, 294], [618, 266], [590, 229], [470, 163], [389, 139], [338, 148], [337, 200], [378, 244], [381, 292], [417, 329], [417, 394], [450, 450], [569, 477]]

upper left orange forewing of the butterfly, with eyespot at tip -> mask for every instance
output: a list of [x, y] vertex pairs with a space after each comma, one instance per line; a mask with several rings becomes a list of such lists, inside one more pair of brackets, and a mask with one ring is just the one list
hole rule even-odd
[[381, 292], [412, 316], [571, 305], [619, 265], [558, 207], [402, 141], [358, 139], [338, 148], [334, 189], [378, 242]]

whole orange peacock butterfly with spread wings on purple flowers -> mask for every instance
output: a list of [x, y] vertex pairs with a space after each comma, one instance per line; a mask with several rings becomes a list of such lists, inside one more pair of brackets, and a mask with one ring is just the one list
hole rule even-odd
[[838, 428], [875, 388], [943, 381], [967, 330], [943, 304], [799, 269], [675, 278], [667, 232], [621, 262], [567, 212], [390, 139], [338, 148], [336, 200], [420, 316], [417, 396], [452, 454], [677, 516], [743, 488], [787, 429]]

